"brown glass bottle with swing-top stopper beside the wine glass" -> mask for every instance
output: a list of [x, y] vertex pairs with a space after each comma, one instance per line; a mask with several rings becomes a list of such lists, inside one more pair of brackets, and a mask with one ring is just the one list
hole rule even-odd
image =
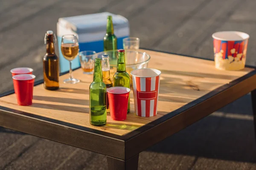
[[59, 88], [59, 59], [54, 50], [55, 41], [53, 31], [47, 31], [44, 37], [46, 54], [43, 59], [44, 88], [47, 90], [57, 90]]

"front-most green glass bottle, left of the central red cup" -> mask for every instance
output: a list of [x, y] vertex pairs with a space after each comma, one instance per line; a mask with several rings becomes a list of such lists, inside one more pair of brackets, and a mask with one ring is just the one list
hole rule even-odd
[[100, 58], [95, 59], [93, 82], [90, 84], [90, 124], [101, 126], [107, 123], [106, 110], [107, 87], [102, 78], [102, 63]]

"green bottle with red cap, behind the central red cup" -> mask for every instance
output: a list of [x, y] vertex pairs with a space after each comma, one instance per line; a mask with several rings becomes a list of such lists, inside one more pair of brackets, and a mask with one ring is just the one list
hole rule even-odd
[[[126, 72], [124, 49], [118, 50], [117, 68], [116, 68], [116, 73], [114, 74], [114, 77], [113, 77], [113, 81], [114, 81], [114, 87], [122, 86], [122, 87], [130, 88], [130, 76]], [[127, 113], [129, 112], [130, 112], [130, 96], [128, 101]]]

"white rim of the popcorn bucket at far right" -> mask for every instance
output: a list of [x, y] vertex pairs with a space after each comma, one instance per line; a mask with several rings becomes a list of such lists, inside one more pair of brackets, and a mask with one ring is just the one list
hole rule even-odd
[[[237, 34], [241, 36], [241, 38], [221, 38], [219, 34]], [[250, 38], [249, 34], [241, 32], [241, 31], [218, 31], [212, 34], [212, 38], [215, 40], [222, 40], [222, 41], [244, 41]]]

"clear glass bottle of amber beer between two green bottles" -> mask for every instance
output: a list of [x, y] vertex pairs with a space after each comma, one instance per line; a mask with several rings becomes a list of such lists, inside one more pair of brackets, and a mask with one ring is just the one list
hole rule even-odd
[[[103, 74], [103, 82], [105, 83], [107, 88], [113, 87], [113, 83], [110, 79], [110, 65], [109, 65], [109, 56], [108, 56], [108, 54], [103, 54], [102, 55], [102, 74]], [[108, 95], [106, 97], [106, 100], [107, 100], [107, 113], [110, 113]]]

